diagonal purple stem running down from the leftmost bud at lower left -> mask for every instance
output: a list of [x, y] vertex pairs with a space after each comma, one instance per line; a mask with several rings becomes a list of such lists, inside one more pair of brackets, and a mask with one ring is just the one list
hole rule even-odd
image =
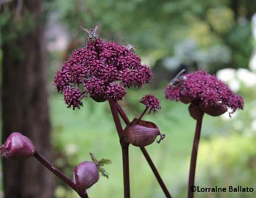
[[[60, 172], [60, 170], [57, 169], [53, 164], [51, 164], [51, 162], [49, 162], [46, 158], [44, 158], [43, 155], [41, 155], [40, 153], [35, 151], [34, 157], [38, 161], [40, 161], [40, 163], [43, 164], [43, 166], [45, 166], [47, 169], [49, 169], [54, 175], [56, 175], [61, 180], [63, 180], [63, 182], [68, 184], [68, 186], [73, 188], [74, 191], [77, 191], [77, 193], [79, 194], [79, 190], [77, 188], [77, 185], [72, 180], [70, 180], [67, 176], [65, 176], [63, 174], [63, 172]], [[82, 197], [82, 198], [88, 198], [88, 194], [79, 194], [79, 196]]]

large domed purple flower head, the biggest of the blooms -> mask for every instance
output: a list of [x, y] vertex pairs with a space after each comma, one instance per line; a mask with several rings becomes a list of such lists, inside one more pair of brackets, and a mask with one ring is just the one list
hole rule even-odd
[[150, 68], [129, 48], [96, 39], [71, 54], [54, 76], [54, 85], [75, 109], [85, 96], [98, 102], [121, 100], [126, 87], [141, 88], [151, 77]]

